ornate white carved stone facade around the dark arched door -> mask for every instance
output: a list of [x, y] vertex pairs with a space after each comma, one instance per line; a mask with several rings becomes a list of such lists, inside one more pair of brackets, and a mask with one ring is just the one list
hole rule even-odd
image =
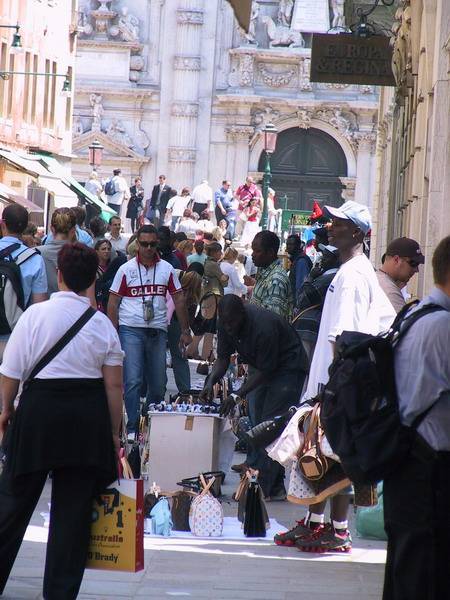
[[[257, 174], [261, 130], [272, 120], [279, 131], [315, 127], [336, 139], [347, 157], [344, 195], [371, 206], [378, 90], [311, 83], [310, 34], [305, 47], [270, 48], [265, 18], [277, 20], [278, 0], [253, 3], [251, 40], [225, 0], [118, 0], [103, 29], [97, 5], [80, 1], [73, 163], [80, 180], [97, 136], [108, 146], [102, 176], [121, 166], [130, 178], [141, 174], [147, 190], [160, 173], [177, 188], [204, 178], [213, 187], [224, 178], [238, 185]], [[93, 94], [101, 96], [96, 124]]]

